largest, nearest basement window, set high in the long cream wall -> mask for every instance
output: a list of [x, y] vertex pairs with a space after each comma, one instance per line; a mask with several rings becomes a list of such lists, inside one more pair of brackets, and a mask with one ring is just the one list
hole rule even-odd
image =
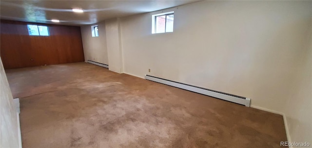
[[174, 32], [174, 11], [152, 15], [152, 33]]

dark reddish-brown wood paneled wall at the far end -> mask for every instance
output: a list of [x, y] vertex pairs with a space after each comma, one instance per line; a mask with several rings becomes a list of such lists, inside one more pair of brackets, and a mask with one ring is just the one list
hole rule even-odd
[[[48, 26], [50, 36], [30, 36], [27, 24]], [[84, 61], [77, 26], [0, 20], [0, 34], [5, 69]]]

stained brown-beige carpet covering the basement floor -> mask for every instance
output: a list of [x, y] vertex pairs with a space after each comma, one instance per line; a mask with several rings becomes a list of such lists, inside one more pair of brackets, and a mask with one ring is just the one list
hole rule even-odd
[[23, 148], [279, 148], [281, 115], [89, 63], [6, 70]]

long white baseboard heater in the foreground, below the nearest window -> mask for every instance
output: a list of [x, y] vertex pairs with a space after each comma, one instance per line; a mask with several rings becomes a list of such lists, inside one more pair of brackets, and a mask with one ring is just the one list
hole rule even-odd
[[211, 89], [206, 89], [206, 88], [202, 88], [202, 87], [197, 87], [197, 86], [193, 86], [193, 85], [187, 85], [187, 84], [174, 82], [174, 81], [166, 80], [166, 79], [162, 79], [162, 78], [157, 78], [157, 77], [149, 76], [149, 75], [145, 75], [145, 79], [150, 80], [150, 81], [154, 81], [154, 82], [158, 82], [161, 84], [170, 85], [170, 86], [174, 86], [177, 88], [193, 91], [193, 92], [200, 93], [203, 95], [215, 97], [218, 99], [226, 100], [229, 102], [234, 102], [236, 104], [244, 105], [247, 107], [250, 106], [250, 98], [236, 96], [236, 95], [232, 95], [232, 94], [228, 94], [228, 93], [224, 93], [224, 92], [219, 92], [219, 91], [215, 91], [215, 90], [211, 90]]

